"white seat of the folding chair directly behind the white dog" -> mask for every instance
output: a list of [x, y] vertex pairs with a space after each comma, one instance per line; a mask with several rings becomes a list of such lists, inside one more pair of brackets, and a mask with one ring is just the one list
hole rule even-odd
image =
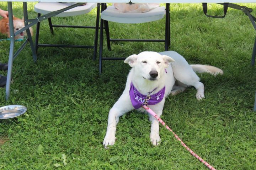
[[118, 23], [143, 23], [160, 20], [165, 15], [165, 7], [160, 6], [149, 12], [142, 13], [125, 13], [116, 9], [114, 6], [108, 6], [101, 12], [101, 18], [106, 21]]

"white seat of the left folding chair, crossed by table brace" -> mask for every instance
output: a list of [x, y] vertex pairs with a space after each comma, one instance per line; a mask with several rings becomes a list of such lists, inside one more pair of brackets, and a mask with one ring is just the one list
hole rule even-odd
[[[75, 3], [60, 3], [60, 2], [39, 2], [34, 6], [34, 11], [41, 14], [47, 14], [53, 11], [61, 10], [65, 7], [73, 5]], [[97, 3], [87, 3], [86, 5], [81, 5], [74, 7], [73, 9], [64, 11], [56, 15], [57, 17], [70, 17], [76, 15], [82, 15], [89, 13]]]

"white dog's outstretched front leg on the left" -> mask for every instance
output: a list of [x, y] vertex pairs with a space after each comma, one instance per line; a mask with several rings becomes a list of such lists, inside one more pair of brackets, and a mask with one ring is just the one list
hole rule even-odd
[[129, 101], [129, 96], [127, 98], [127, 96], [125, 97], [124, 95], [121, 95], [118, 101], [110, 109], [108, 114], [107, 132], [103, 140], [103, 145], [106, 149], [108, 148], [108, 145], [113, 145], [116, 141], [116, 126], [119, 121], [119, 117], [132, 109], [133, 106]]

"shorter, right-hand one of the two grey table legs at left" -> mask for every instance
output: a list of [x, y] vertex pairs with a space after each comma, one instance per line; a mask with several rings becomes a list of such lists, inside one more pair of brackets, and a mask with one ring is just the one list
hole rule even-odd
[[[27, 2], [23, 2], [23, 15], [24, 15], [25, 26], [27, 26], [28, 25]], [[29, 28], [26, 29], [26, 33], [27, 33], [27, 36], [28, 36], [28, 41], [30, 42], [30, 47], [31, 47], [31, 50], [32, 50], [32, 55], [33, 55], [34, 62], [36, 62], [37, 61], [36, 49], [34, 48], [34, 43], [33, 43], [32, 36], [31, 36]]]

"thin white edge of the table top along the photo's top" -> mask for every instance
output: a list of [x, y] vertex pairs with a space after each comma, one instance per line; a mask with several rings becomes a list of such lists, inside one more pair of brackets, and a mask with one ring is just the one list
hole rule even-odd
[[[13, 2], [38, 2], [38, 0], [1, 0]], [[256, 0], [131, 0], [133, 3], [251, 3]], [[40, 0], [40, 2], [130, 2], [130, 0]]]

